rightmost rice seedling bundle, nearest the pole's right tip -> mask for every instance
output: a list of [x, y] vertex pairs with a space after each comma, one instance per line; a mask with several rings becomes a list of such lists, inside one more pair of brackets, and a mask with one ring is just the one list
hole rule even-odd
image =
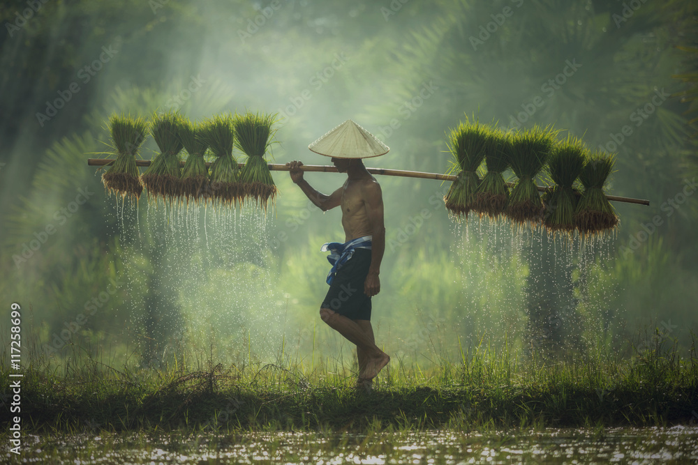
[[596, 151], [581, 169], [579, 181], [584, 185], [584, 192], [574, 212], [574, 224], [580, 234], [602, 234], [618, 225], [618, 215], [604, 193], [604, 184], [613, 172], [615, 162], [613, 155]]

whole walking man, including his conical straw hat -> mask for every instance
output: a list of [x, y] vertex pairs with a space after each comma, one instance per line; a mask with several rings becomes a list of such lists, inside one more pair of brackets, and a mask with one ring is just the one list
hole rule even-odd
[[291, 179], [322, 211], [336, 206], [342, 209], [345, 243], [327, 243], [322, 251], [332, 270], [327, 277], [329, 291], [320, 305], [320, 317], [331, 328], [356, 344], [359, 362], [357, 388], [371, 390], [376, 377], [390, 357], [376, 346], [371, 328], [371, 297], [380, 291], [380, 261], [385, 250], [383, 197], [380, 185], [362, 158], [387, 153], [389, 148], [354, 121], [337, 126], [308, 148], [332, 157], [332, 163], [346, 173], [344, 185], [324, 195], [313, 189], [303, 178], [302, 162], [287, 163]]

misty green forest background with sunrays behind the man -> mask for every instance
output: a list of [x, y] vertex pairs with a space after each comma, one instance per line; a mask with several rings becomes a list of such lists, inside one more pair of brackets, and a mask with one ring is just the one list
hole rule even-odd
[[[554, 124], [617, 153], [609, 192], [651, 206], [614, 203], [616, 234], [570, 243], [457, 224], [448, 183], [378, 178], [378, 345], [405, 363], [457, 360], [481, 342], [551, 358], [686, 348], [698, 165], [695, 77], [680, 76], [698, 63], [697, 13], [639, 0], [3, 1], [2, 305], [22, 305], [23, 337], [57, 362], [80, 343], [110, 363], [350, 363], [351, 344], [318, 315], [320, 246], [343, 241], [338, 208], [323, 214], [284, 172], [267, 215], [168, 209], [146, 194], [123, 205], [87, 158], [109, 156], [113, 113], [250, 110], [279, 113], [272, 162], [329, 164], [308, 144], [354, 119], [390, 147], [367, 166], [443, 173], [446, 132], [468, 115]], [[142, 158], [155, 149], [149, 138]], [[329, 193], [344, 178], [306, 179]]]

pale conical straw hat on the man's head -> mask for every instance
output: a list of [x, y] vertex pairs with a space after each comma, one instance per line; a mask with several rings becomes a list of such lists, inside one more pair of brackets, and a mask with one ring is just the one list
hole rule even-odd
[[371, 158], [390, 150], [376, 136], [348, 119], [308, 146], [311, 151], [334, 158]]

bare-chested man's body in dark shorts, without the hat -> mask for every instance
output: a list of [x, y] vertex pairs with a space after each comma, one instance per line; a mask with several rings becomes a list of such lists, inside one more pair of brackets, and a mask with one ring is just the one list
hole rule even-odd
[[303, 171], [299, 169], [302, 162], [293, 161], [286, 166], [290, 167], [292, 181], [299, 185], [315, 206], [322, 211], [341, 206], [346, 243], [327, 245], [329, 250], [336, 252], [336, 257], [348, 248], [352, 248], [353, 253], [332, 277], [327, 296], [320, 305], [320, 317], [356, 344], [359, 361], [357, 387], [370, 390], [371, 380], [390, 360], [376, 346], [370, 321], [371, 297], [380, 291], [378, 275], [385, 250], [383, 197], [380, 185], [366, 171], [361, 159], [333, 157], [332, 162], [339, 172], [346, 172], [348, 178], [331, 195], [321, 194], [303, 178]]

